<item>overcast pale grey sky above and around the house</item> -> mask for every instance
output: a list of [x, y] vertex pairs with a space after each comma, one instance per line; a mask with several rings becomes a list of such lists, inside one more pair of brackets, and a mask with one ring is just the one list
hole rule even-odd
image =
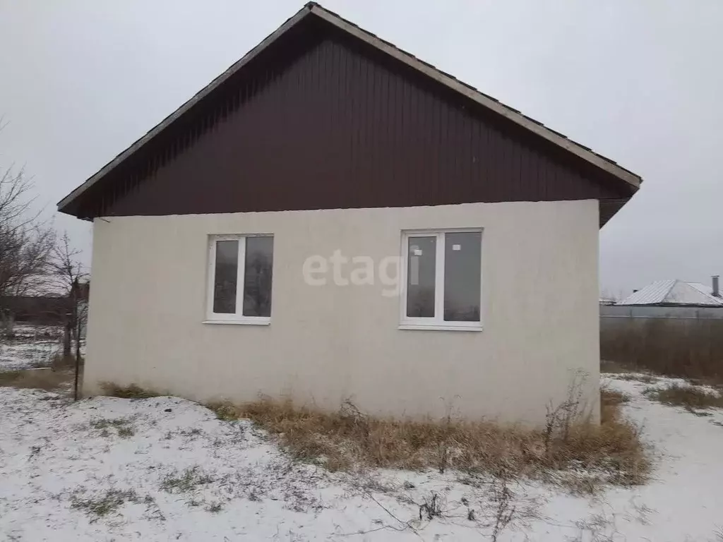
[[[320, 3], [643, 176], [602, 288], [723, 275], [723, 1]], [[0, 0], [0, 167], [53, 211], [301, 5]], [[88, 223], [55, 220], [90, 252]]]

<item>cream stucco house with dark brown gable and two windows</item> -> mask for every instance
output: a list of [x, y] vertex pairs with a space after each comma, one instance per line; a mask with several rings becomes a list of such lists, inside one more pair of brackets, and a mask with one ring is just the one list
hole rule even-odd
[[59, 202], [85, 394], [544, 423], [595, 408], [599, 228], [641, 178], [317, 4]]

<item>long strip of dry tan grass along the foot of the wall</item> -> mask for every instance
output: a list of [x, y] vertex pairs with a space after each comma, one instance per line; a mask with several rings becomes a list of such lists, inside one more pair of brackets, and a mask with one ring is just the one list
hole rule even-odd
[[[646, 481], [650, 463], [640, 431], [620, 416], [623, 400], [621, 394], [602, 392], [599, 425], [577, 416], [567, 425], [539, 430], [450, 417], [373, 418], [348, 401], [335, 413], [268, 397], [240, 406], [212, 406], [222, 419], [252, 419], [278, 436], [296, 459], [322, 463], [330, 470], [435, 468], [547, 479], [556, 471], [587, 470], [596, 473], [598, 482], [629, 486]], [[552, 478], [578, 485], [573, 478]], [[594, 491], [592, 485], [586, 491]]]

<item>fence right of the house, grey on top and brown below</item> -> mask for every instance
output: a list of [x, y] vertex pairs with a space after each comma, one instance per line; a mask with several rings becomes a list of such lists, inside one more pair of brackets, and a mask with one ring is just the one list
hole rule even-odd
[[600, 356], [641, 369], [723, 377], [723, 307], [601, 306]]

